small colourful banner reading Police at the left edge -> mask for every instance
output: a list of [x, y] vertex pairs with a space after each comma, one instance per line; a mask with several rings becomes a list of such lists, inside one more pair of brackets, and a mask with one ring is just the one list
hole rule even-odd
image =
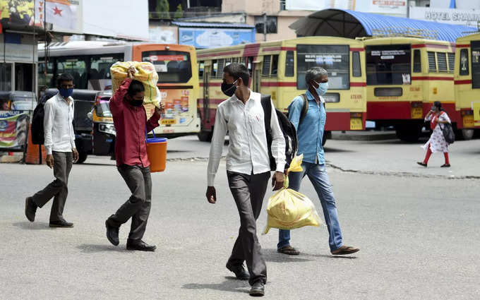
[[28, 111], [0, 110], [0, 148], [23, 148], [27, 139], [29, 123]]

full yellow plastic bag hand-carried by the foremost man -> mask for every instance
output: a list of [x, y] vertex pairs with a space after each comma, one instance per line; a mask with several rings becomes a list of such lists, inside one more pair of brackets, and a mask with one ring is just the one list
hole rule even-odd
[[[296, 156], [289, 167], [289, 172], [301, 172], [301, 161], [304, 156]], [[268, 199], [267, 226], [262, 234], [267, 234], [270, 228], [296, 229], [304, 226], [320, 226], [322, 221], [315, 205], [306, 196], [288, 188], [288, 177], [284, 188]]]

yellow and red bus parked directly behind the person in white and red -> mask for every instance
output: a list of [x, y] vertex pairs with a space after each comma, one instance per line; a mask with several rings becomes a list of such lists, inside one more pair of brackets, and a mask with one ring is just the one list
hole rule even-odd
[[434, 101], [458, 125], [453, 70], [455, 44], [417, 37], [362, 38], [366, 56], [367, 120], [395, 126], [401, 140], [421, 135]]

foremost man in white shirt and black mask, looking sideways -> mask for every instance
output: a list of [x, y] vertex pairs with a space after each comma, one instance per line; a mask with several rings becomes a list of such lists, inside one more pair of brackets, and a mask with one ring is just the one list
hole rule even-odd
[[[227, 268], [239, 280], [251, 284], [251, 296], [263, 296], [267, 282], [267, 268], [260, 253], [256, 234], [256, 220], [260, 215], [263, 197], [270, 178], [270, 159], [260, 94], [248, 88], [250, 75], [242, 64], [229, 64], [224, 68], [222, 92], [229, 96], [217, 107], [210, 159], [208, 160], [209, 203], [217, 202], [214, 179], [222, 157], [225, 135], [229, 133], [227, 177], [230, 191], [240, 215], [239, 236], [235, 241]], [[272, 156], [277, 170], [272, 178], [274, 191], [284, 182], [285, 140], [272, 104], [270, 127]], [[244, 269], [244, 261], [248, 272]]]

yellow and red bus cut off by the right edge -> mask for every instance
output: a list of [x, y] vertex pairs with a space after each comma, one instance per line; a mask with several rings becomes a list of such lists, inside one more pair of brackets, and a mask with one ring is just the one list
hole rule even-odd
[[464, 138], [480, 128], [480, 32], [457, 39], [455, 52], [455, 97]]

